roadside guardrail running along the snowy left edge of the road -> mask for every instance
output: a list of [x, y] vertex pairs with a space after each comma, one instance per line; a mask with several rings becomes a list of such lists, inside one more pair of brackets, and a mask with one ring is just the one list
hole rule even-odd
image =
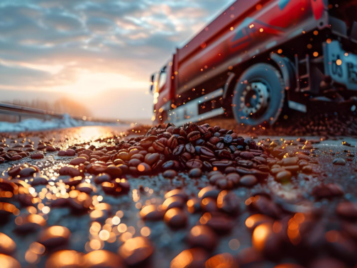
[[[21, 106], [16, 104], [8, 104], [0, 102], [0, 114], [5, 114], [9, 116], [18, 116], [18, 121], [20, 122], [23, 117], [28, 118], [40, 118], [43, 120], [50, 120], [53, 118], [64, 118], [65, 113], [57, 113], [54, 111], [47, 111], [39, 108], [32, 108], [28, 106]], [[119, 123], [119, 121], [111, 120], [111, 119], [101, 119], [101, 118], [79, 118], [72, 117], [78, 121], [90, 121], [90, 122], [100, 122], [100, 123]], [[121, 123], [121, 122], [120, 122]]]

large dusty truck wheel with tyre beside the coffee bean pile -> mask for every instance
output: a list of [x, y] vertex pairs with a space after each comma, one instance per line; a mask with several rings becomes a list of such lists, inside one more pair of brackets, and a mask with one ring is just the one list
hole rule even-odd
[[284, 104], [284, 90], [280, 72], [273, 66], [259, 63], [249, 67], [234, 89], [234, 118], [240, 124], [273, 125]]

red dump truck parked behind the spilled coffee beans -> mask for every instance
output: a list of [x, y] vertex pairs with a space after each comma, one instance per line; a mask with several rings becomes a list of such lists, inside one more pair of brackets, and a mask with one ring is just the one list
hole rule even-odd
[[357, 0], [237, 0], [151, 77], [153, 121], [271, 125], [282, 108], [356, 109]]

